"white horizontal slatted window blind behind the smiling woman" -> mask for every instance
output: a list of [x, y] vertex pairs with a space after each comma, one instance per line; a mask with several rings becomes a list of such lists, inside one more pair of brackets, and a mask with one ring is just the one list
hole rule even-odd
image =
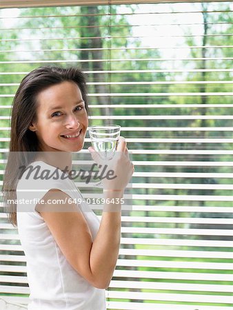
[[[108, 309], [232, 306], [230, 4], [1, 10], [1, 185], [12, 99], [40, 65], [83, 68], [90, 123], [121, 125], [132, 152], [133, 206], [122, 211]], [[87, 136], [81, 154], [89, 145]], [[77, 186], [83, 196], [101, 197]], [[0, 261], [0, 298], [27, 304], [26, 260], [3, 207]]]

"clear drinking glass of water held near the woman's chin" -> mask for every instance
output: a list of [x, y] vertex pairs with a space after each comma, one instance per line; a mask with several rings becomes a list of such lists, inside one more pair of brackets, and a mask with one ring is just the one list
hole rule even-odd
[[[121, 126], [119, 125], [96, 125], [89, 127], [92, 147], [94, 147], [102, 159], [108, 161], [113, 158], [120, 133]], [[99, 185], [101, 185], [101, 182], [97, 183], [97, 186]]]

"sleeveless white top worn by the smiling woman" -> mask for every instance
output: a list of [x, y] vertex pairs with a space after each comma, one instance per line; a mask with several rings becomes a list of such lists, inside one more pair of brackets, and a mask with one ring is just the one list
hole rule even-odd
[[[30, 164], [39, 165], [41, 170], [54, 172], [61, 176], [61, 170], [35, 161]], [[41, 171], [40, 170], [40, 171]], [[43, 218], [35, 210], [37, 202], [19, 203], [20, 199], [42, 199], [50, 189], [60, 189], [72, 199], [84, 198], [79, 189], [69, 178], [65, 180], [34, 180], [33, 173], [28, 180], [25, 172], [17, 185], [17, 223], [19, 237], [26, 255], [28, 284], [30, 287], [30, 310], [105, 310], [105, 289], [97, 289], [75, 271], [61, 253], [57, 242], [50, 233]], [[35, 190], [37, 189], [37, 190]], [[35, 200], [34, 200], [35, 201]], [[84, 201], [77, 210], [81, 210], [92, 234], [97, 236], [100, 221], [96, 214]], [[77, 240], [82, 242], [82, 240]]]

